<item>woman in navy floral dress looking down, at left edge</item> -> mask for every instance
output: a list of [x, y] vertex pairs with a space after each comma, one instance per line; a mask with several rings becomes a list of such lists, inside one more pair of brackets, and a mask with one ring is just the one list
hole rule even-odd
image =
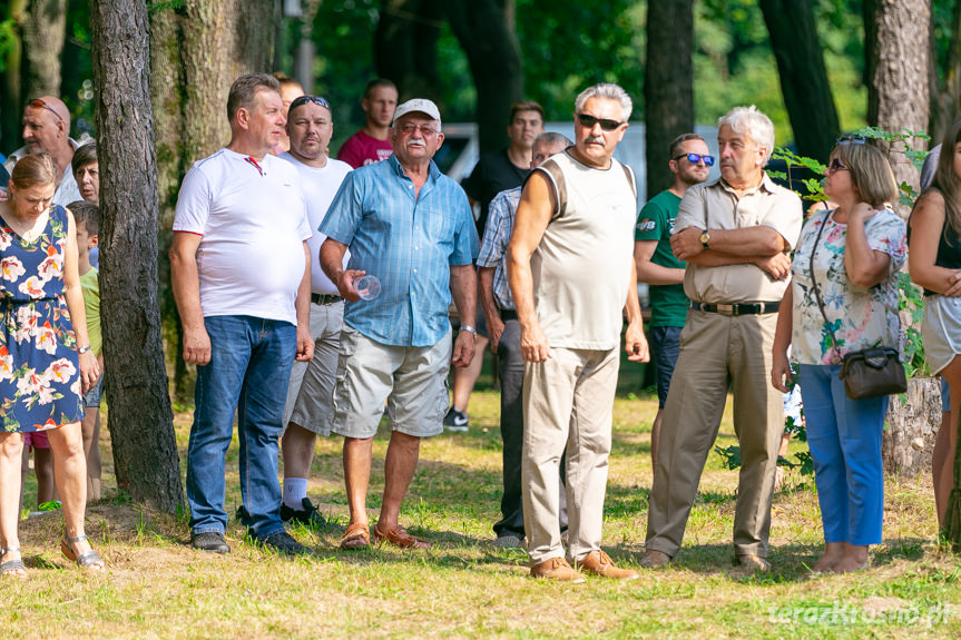
[[[13, 167], [0, 203], [0, 575], [24, 575], [17, 523], [23, 433], [45, 431], [66, 532], [60, 548], [85, 569], [104, 561], [84, 534], [87, 465], [80, 393], [97, 381], [87, 339], [73, 217], [51, 206], [57, 168], [47, 154]], [[72, 322], [71, 322], [72, 321]]]

